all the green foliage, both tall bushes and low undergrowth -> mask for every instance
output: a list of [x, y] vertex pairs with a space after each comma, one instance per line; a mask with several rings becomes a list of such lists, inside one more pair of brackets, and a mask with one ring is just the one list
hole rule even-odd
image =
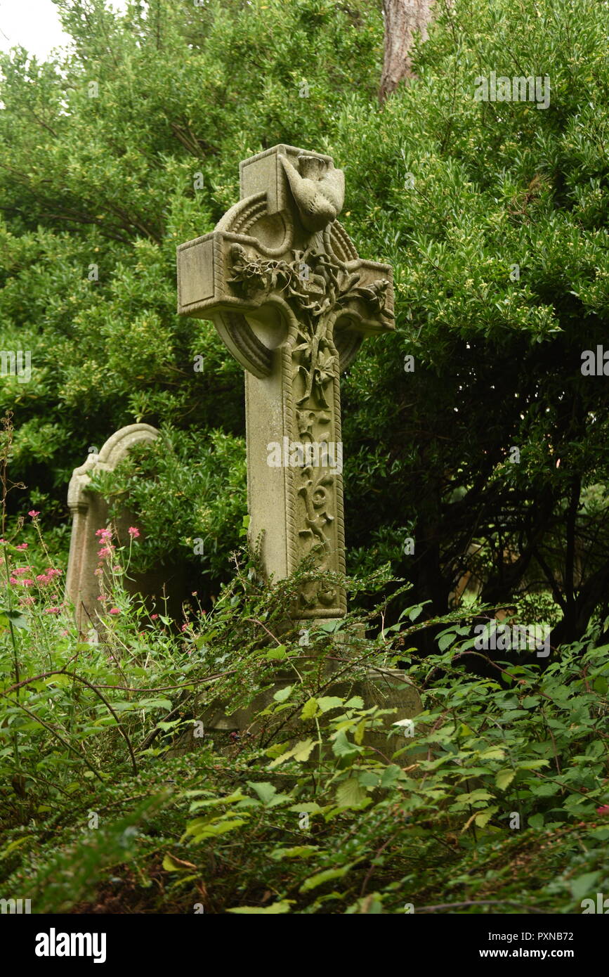
[[[35, 913], [580, 913], [609, 888], [607, 387], [581, 369], [609, 324], [607, 2], [440, 3], [383, 107], [368, 0], [57, 2], [71, 51], [0, 58], [0, 348], [31, 353], [0, 387], [3, 891]], [[548, 107], [475, 101], [491, 72], [548, 75]], [[395, 278], [395, 333], [342, 384], [353, 610], [306, 642], [298, 574], [230, 559], [242, 371], [175, 312], [176, 245], [277, 143], [345, 168], [341, 220]], [[134, 421], [162, 438], [97, 483], [142, 534], [107, 547], [94, 644], [61, 594], [66, 487]], [[177, 620], [126, 590], [176, 558]], [[551, 656], [477, 651], [498, 605], [552, 624]], [[358, 692], [397, 664], [412, 727]], [[240, 736], [208, 728], [219, 703], [251, 710]]]

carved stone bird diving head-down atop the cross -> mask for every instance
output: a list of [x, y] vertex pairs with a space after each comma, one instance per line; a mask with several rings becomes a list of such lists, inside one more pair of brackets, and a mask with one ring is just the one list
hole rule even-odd
[[345, 174], [318, 156], [299, 156], [299, 169], [279, 153], [290, 190], [307, 231], [323, 231], [335, 221], [345, 202]]

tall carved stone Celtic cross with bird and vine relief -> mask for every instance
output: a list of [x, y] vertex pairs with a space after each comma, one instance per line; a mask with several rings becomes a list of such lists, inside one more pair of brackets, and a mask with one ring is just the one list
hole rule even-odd
[[[240, 165], [241, 200], [178, 248], [178, 312], [211, 319], [245, 367], [250, 538], [264, 569], [345, 573], [340, 373], [393, 328], [391, 268], [362, 261], [336, 220], [345, 178], [292, 146]], [[296, 618], [345, 615], [345, 592], [304, 584]]]

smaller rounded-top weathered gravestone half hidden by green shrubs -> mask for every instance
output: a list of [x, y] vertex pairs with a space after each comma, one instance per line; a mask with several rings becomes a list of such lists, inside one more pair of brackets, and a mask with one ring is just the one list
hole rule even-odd
[[[99, 492], [89, 489], [91, 477], [99, 471], [113, 471], [134, 445], [153, 442], [157, 437], [158, 431], [149, 424], [130, 424], [108, 438], [99, 454], [90, 452], [84, 465], [73, 471], [67, 490], [67, 504], [73, 521], [65, 593], [74, 605], [80, 631], [99, 630], [102, 623], [99, 597], [103, 578], [96, 574], [101, 565], [101, 543], [96, 532], [107, 526], [108, 504]], [[128, 542], [127, 528], [134, 525], [135, 518], [125, 511], [117, 520], [119, 543]], [[149, 574], [133, 581], [126, 580], [125, 585], [132, 592], [142, 593], [150, 592], [158, 582], [153, 574]]]

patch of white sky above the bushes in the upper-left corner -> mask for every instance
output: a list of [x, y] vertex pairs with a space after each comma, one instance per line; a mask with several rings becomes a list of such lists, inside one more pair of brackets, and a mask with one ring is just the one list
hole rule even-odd
[[[112, 0], [111, 6], [124, 10], [126, 3]], [[53, 48], [68, 43], [52, 0], [0, 0], [0, 51], [20, 44], [42, 61]]]

